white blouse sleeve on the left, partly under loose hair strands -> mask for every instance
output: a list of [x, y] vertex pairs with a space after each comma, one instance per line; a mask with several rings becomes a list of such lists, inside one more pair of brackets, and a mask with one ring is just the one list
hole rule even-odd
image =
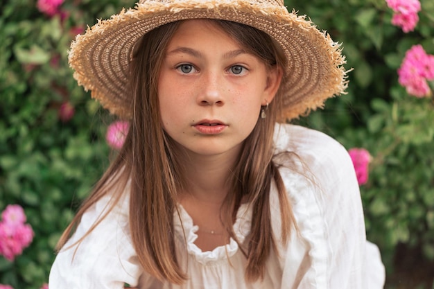
[[[51, 289], [121, 289], [137, 285], [141, 267], [131, 243], [128, 198], [123, 198], [80, 245], [62, 249], [49, 276]], [[84, 236], [107, 209], [105, 196], [85, 212], [67, 248]]]

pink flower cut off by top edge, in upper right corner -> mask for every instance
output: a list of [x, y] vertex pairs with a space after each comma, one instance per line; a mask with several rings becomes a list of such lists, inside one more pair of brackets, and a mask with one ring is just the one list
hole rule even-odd
[[394, 11], [392, 24], [402, 28], [403, 32], [408, 33], [415, 30], [419, 16], [417, 12], [421, 10], [419, 0], [385, 0], [388, 6]]

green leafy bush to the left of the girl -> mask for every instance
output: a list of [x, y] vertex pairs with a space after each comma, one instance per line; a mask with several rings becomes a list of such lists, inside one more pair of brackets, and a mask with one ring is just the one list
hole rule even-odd
[[[110, 117], [78, 87], [67, 63], [74, 33], [133, 1], [65, 1], [48, 17], [36, 1], [0, 3], [0, 210], [20, 204], [35, 238], [14, 262], [0, 257], [0, 283], [40, 288], [54, 247], [107, 166]], [[62, 121], [62, 103], [75, 114]]]

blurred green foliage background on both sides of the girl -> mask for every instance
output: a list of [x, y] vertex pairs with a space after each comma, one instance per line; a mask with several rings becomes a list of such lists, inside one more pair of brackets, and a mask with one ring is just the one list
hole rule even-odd
[[[48, 281], [62, 229], [108, 164], [111, 116], [76, 85], [67, 49], [78, 30], [133, 3], [66, 0], [62, 17], [47, 17], [32, 0], [0, 3], [0, 210], [21, 204], [35, 231], [14, 262], [0, 257], [0, 283], [33, 289]], [[387, 268], [386, 288], [432, 288], [434, 104], [408, 96], [397, 68], [413, 44], [434, 54], [434, 1], [421, 1], [411, 33], [390, 24], [383, 0], [285, 3], [342, 42], [347, 68], [354, 68], [346, 96], [295, 123], [370, 151], [370, 180], [361, 193], [367, 238], [379, 245]], [[64, 102], [75, 107], [69, 121], [59, 117]]]

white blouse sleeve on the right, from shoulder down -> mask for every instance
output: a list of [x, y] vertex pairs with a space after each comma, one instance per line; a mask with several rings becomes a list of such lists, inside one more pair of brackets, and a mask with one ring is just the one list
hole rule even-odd
[[[288, 193], [309, 256], [306, 256], [309, 261], [302, 263], [309, 267], [297, 272], [302, 276], [297, 276], [300, 282], [296, 288], [383, 288], [381, 282], [368, 280], [372, 275], [366, 274], [365, 220], [356, 173], [347, 150], [321, 132], [293, 125], [280, 130], [279, 134], [284, 135], [280, 138], [300, 157], [308, 168], [304, 173], [311, 180], [307, 185], [300, 180], [286, 184], [292, 190]], [[293, 252], [286, 254], [288, 260]], [[382, 265], [379, 254], [372, 256], [378, 259], [376, 264]], [[290, 264], [286, 263], [284, 275], [294, 270], [288, 270], [287, 266]], [[372, 286], [373, 283], [376, 285]]]

